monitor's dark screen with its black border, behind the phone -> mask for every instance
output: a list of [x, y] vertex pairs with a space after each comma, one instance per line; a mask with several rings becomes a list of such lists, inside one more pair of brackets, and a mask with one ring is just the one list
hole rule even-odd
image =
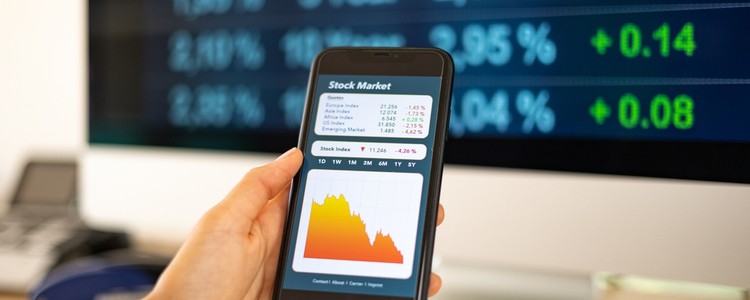
[[89, 3], [92, 143], [280, 152], [331, 46], [455, 61], [449, 163], [750, 183], [750, 3]]

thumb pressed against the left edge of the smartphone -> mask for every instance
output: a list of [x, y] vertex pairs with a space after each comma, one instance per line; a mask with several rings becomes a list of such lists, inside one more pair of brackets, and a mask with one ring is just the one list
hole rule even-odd
[[275, 161], [250, 170], [221, 205], [244, 220], [254, 220], [274, 196], [289, 185], [302, 166], [302, 152], [292, 148]]

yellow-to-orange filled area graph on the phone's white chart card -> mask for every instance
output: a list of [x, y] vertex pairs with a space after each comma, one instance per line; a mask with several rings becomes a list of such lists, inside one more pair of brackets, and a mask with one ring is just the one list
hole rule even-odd
[[323, 204], [313, 201], [304, 256], [403, 264], [404, 256], [391, 236], [379, 230], [370, 243], [365, 226], [350, 212], [344, 195], [326, 196]]

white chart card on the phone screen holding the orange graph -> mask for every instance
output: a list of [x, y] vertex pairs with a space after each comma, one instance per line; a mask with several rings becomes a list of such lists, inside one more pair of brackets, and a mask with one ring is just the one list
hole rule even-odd
[[292, 268], [408, 278], [422, 185], [418, 173], [311, 170]]

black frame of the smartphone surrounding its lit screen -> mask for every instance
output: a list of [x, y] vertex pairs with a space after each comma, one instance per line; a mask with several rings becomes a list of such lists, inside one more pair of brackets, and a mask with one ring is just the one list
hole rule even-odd
[[[434, 133], [434, 151], [430, 165], [430, 179], [427, 188], [426, 214], [423, 228], [422, 244], [418, 246], [421, 253], [418, 264], [417, 287], [411, 298], [323, 293], [327, 299], [426, 299], [429, 276], [432, 264], [432, 251], [435, 240], [435, 223], [437, 221], [440, 185], [443, 173], [443, 156], [445, 141], [448, 134], [448, 118], [450, 115], [450, 99], [453, 87], [453, 61], [450, 55], [437, 48], [378, 48], [378, 47], [336, 47], [329, 48], [317, 55], [313, 61], [307, 86], [305, 109], [300, 127], [297, 147], [305, 153], [307, 137], [312, 126], [312, 107], [315, 99], [315, 87], [318, 75], [384, 75], [384, 76], [439, 76], [440, 100], [436, 112], [436, 127]], [[304, 162], [303, 162], [304, 164]], [[286, 271], [287, 252], [293, 243], [290, 240], [294, 220], [294, 208], [299, 197], [300, 172], [293, 181], [289, 195], [289, 209], [284, 225], [284, 236], [281, 241], [281, 251], [274, 284], [274, 299], [280, 299], [283, 289], [283, 278]], [[289, 290], [288, 290], [289, 291]], [[320, 292], [299, 291], [307, 297], [322, 296]]]

